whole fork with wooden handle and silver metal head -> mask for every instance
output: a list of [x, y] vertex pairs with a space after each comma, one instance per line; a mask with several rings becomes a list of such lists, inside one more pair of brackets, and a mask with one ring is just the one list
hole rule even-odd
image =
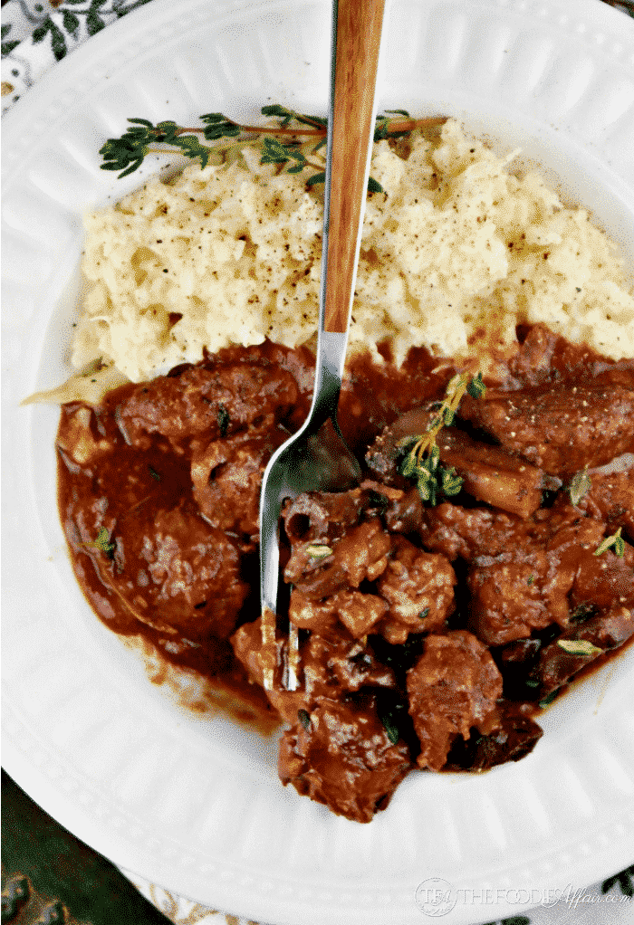
[[[304, 425], [271, 457], [260, 495], [260, 598], [264, 686], [276, 666], [280, 512], [305, 491], [344, 490], [361, 470], [337, 424], [354, 279], [361, 246], [376, 117], [375, 89], [385, 0], [333, 0], [323, 256], [315, 388]], [[289, 622], [284, 678], [297, 688], [299, 640]]]

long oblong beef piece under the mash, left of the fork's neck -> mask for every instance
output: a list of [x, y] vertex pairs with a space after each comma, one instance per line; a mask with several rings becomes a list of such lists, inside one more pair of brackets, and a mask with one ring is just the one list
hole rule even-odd
[[[106, 399], [116, 404], [118, 392]], [[116, 408], [127, 443], [146, 449], [148, 435], [162, 434], [179, 446], [205, 435], [218, 439], [243, 430], [268, 431], [283, 419], [299, 396], [295, 380], [267, 364], [185, 366], [176, 376], [139, 383]]]

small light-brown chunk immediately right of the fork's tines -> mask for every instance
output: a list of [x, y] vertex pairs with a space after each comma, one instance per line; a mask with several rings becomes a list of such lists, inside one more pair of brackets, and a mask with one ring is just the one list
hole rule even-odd
[[310, 600], [293, 588], [289, 619], [300, 629], [319, 635], [331, 634], [340, 621], [355, 639], [360, 639], [387, 611], [388, 604], [376, 594], [344, 590], [324, 600]]

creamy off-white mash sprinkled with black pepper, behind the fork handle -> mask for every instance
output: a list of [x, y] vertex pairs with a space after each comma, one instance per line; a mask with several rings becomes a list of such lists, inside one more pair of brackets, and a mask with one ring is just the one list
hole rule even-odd
[[[634, 288], [587, 212], [537, 175], [517, 177], [449, 120], [375, 145], [351, 346], [397, 364], [412, 346], [466, 356], [516, 344], [518, 324], [615, 360], [634, 355]], [[301, 175], [246, 148], [230, 166], [187, 167], [86, 220], [88, 290], [72, 361], [133, 381], [197, 362], [204, 348], [265, 339], [289, 347], [317, 328], [323, 203]]]

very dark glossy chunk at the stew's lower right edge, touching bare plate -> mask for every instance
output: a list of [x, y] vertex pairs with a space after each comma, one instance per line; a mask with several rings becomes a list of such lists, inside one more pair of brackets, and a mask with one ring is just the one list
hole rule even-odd
[[488, 771], [506, 761], [519, 761], [533, 750], [542, 735], [540, 726], [521, 709], [505, 705], [498, 729], [488, 735], [473, 730], [468, 742], [456, 739], [445, 770]]

